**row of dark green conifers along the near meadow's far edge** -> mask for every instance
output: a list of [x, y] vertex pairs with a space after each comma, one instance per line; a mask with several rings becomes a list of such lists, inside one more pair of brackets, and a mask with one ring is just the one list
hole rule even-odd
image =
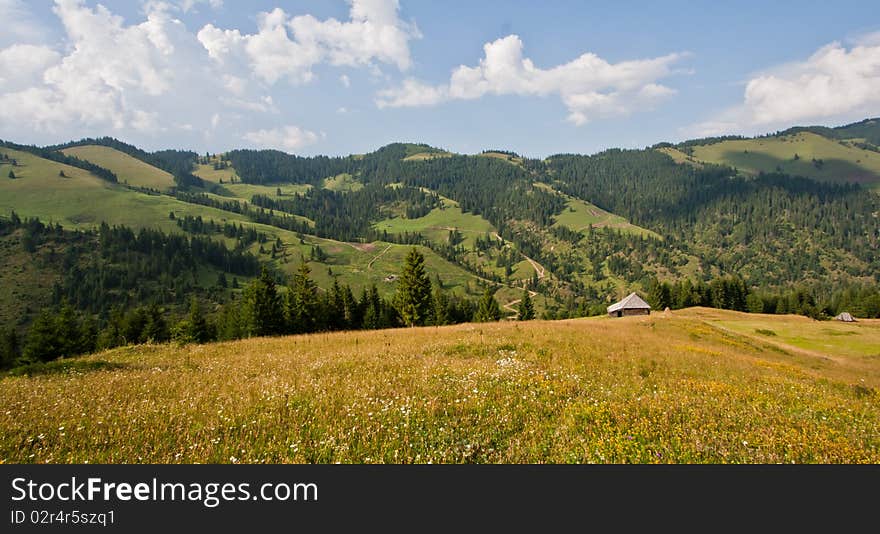
[[[286, 287], [276, 275], [263, 268], [242, 291], [212, 315], [195, 295], [185, 315], [174, 320], [157, 303], [126, 309], [113, 306], [99, 327], [94, 316], [77, 312], [63, 298], [55, 308], [46, 308], [31, 325], [24, 340], [15, 330], [0, 332], [0, 365], [5, 368], [86, 354], [138, 343], [207, 343], [261, 336], [280, 336], [372, 330], [381, 328], [489, 322], [504, 314], [487, 287], [474, 301], [432, 283], [424, 256], [412, 248], [402, 267], [397, 291], [383, 298], [375, 285], [355, 296], [350, 286], [334, 278], [321, 289], [303, 261]], [[535, 316], [528, 293], [524, 294], [518, 318]]]

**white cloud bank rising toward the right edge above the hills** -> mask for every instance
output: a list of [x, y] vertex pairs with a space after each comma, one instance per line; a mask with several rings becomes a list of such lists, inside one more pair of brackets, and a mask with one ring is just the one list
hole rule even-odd
[[691, 126], [691, 135], [744, 133], [807, 121], [846, 120], [880, 114], [880, 38], [867, 35], [847, 49], [834, 42], [807, 60], [759, 73], [745, 86], [743, 102]]

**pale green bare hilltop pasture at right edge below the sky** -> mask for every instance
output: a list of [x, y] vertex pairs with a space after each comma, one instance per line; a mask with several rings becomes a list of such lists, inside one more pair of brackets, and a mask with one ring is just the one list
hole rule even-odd
[[[880, 183], [880, 154], [810, 132], [697, 146], [694, 158], [732, 165], [749, 173], [771, 172], [779, 166], [786, 173], [818, 180]], [[821, 169], [813, 165], [813, 159], [824, 161]]]

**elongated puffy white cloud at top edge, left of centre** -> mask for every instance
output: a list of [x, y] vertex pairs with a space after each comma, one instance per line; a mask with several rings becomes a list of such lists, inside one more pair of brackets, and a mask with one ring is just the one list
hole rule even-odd
[[406, 70], [412, 64], [409, 41], [420, 36], [414, 24], [399, 17], [398, 0], [348, 0], [350, 20], [318, 20], [312, 15], [290, 17], [276, 8], [257, 18], [257, 33], [221, 29], [208, 24], [198, 39], [215, 61], [248, 67], [260, 80], [274, 84], [313, 79], [320, 63], [334, 66], [375, 66], [376, 62]]

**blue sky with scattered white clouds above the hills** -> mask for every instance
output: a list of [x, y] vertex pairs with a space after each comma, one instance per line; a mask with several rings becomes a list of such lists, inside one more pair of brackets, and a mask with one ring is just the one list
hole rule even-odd
[[0, 20], [0, 138], [25, 143], [544, 157], [880, 115], [875, 2], [0, 0]]

